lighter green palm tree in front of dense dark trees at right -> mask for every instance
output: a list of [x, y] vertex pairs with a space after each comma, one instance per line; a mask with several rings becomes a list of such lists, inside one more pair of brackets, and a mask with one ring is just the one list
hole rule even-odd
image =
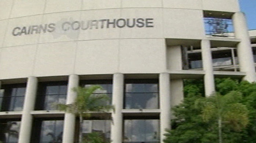
[[[231, 91], [226, 95], [216, 93], [208, 98], [199, 99], [196, 104], [203, 106], [202, 117], [204, 121], [217, 121], [219, 143], [222, 143], [223, 124], [229, 124], [234, 131], [241, 131], [249, 123], [248, 110], [245, 105], [239, 103], [242, 93]], [[203, 100], [203, 101], [202, 101]]]

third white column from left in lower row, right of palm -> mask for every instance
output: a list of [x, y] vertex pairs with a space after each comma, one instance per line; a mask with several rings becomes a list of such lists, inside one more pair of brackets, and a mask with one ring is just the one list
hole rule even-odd
[[115, 112], [112, 113], [113, 123], [111, 124], [112, 143], [122, 143], [122, 109], [124, 101], [124, 75], [116, 73], [113, 75], [113, 97], [112, 104]]

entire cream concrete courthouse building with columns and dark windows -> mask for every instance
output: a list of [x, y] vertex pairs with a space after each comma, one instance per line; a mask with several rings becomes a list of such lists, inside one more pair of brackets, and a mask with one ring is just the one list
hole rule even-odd
[[0, 140], [75, 143], [78, 119], [56, 110], [77, 86], [99, 84], [110, 120], [83, 134], [113, 143], [163, 143], [183, 80], [256, 81], [256, 31], [237, 0], [1, 0]]

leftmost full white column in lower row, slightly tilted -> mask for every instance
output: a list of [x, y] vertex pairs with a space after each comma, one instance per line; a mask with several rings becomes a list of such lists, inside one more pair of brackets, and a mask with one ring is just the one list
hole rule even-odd
[[30, 143], [33, 123], [33, 117], [30, 114], [30, 112], [34, 110], [34, 105], [36, 101], [37, 82], [37, 78], [34, 76], [30, 76], [28, 78], [18, 143]]

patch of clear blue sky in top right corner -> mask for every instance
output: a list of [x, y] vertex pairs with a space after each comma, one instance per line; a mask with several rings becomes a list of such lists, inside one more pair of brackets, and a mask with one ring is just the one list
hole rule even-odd
[[239, 0], [240, 10], [245, 12], [248, 29], [256, 29], [256, 0]]

